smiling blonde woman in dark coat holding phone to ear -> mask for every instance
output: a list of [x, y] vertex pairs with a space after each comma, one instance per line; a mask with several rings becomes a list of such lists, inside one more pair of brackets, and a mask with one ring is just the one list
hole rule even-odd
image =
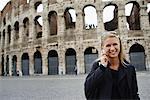
[[122, 52], [115, 32], [102, 36], [102, 53], [85, 81], [87, 100], [139, 100], [135, 68]]

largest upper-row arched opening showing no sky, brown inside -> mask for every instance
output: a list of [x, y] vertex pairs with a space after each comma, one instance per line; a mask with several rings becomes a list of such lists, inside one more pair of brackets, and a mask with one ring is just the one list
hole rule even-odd
[[50, 35], [57, 35], [57, 13], [55, 11], [49, 12], [48, 22], [50, 28]]

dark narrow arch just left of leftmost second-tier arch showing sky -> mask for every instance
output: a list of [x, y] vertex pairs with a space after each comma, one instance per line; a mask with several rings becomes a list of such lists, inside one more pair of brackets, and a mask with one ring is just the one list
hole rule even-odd
[[23, 20], [23, 27], [24, 27], [24, 32], [22, 33], [23, 39], [24, 39], [24, 41], [26, 41], [29, 37], [29, 18], [26, 17]]

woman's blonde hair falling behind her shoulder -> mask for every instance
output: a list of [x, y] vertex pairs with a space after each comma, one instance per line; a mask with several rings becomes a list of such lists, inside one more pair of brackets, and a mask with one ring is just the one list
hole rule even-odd
[[119, 60], [122, 64], [124, 64], [124, 61], [126, 60], [126, 58], [125, 58], [125, 54], [123, 53], [123, 47], [122, 47], [120, 37], [117, 35], [117, 33], [115, 31], [109, 31], [109, 32], [103, 33], [101, 35], [101, 47], [103, 47], [104, 41], [108, 38], [117, 38], [117, 39], [119, 39], [119, 43], [120, 43]]

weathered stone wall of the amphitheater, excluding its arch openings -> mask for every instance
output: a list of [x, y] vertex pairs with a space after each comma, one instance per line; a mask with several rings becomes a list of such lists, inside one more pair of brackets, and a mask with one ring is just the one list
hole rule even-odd
[[[18, 2], [17, 2], [18, 1]], [[59, 74], [66, 74], [65, 53], [67, 49], [72, 48], [76, 51], [78, 74], [85, 73], [84, 51], [88, 47], [94, 47], [100, 54], [100, 33], [105, 31], [103, 23], [103, 8], [110, 2], [102, 2], [101, 0], [41, 0], [43, 4], [43, 12], [37, 13], [35, 3], [40, 0], [30, 0], [27, 4], [26, 0], [12, 0], [6, 5], [0, 16], [0, 59], [4, 55], [4, 69], [6, 70], [6, 56], [9, 56], [9, 74], [12, 75], [12, 58], [17, 56], [17, 71], [22, 72], [21, 57], [23, 53], [29, 56], [29, 73], [34, 75], [34, 53], [38, 50], [42, 55], [42, 74], [48, 74], [48, 52], [55, 50], [59, 58]], [[123, 42], [124, 51], [129, 56], [130, 47], [139, 43], [145, 49], [146, 67], [150, 65], [150, 26], [148, 21], [148, 13], [146, 12], [146, 4], [142, 0], [136, 0], [140, 5], [140, 26], [141, 30], [128, 30], [126, 27], [125, 4], [131, 0], [114, 0], [112, 3], [118, 6], [118, 29], [119, 35]], [[135, 1], [135, 0], [134, 0]], [[144, 3], [143, 3], [144, 2]], [[91, 30], [84, 28], [83, 8], [86, 5], [93, 5], [97, 11], [98, 27]], [[66, 29], [64, 12], [67, 7], [76, 10], [75, 28]], [[50, 11], [57, 13], [57, 35], [50, 36], [50, 28], [48, 22], [48, 14]], [[36, 16], [42, 16], [42, 38], [36, 38], [36, 29], [34, 19]], [[3, 25], [3, 18], [6, 18], [6, 25]], [[29, 19], [29, 36], [24, 41], [24, 18]], [[91, 19], [92, 20], [92, 19]], [[14, 41], [15, 22], [19, 22], [19, 39]], [[7, 26], [11, 26], [11, 42], [8, 44]], [[5, 44], [3, 44], [3, 30], [5, 30]], [[4, 45], [4, 47], [2, 47]], [[2, 63], [2, 60], [0, 60]], [[0, 64], [0, 70], [2, 66]], [[2, 71], [0, 71], [0, 74]]]

